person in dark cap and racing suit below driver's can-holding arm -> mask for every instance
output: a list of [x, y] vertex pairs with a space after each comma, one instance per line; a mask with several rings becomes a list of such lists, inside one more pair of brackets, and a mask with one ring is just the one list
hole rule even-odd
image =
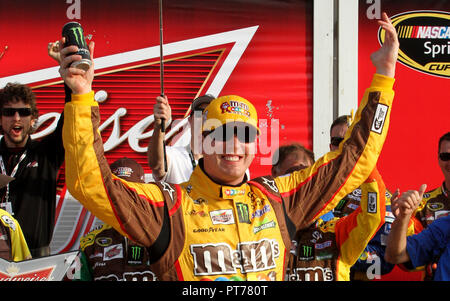
[[[111, 172], [129, 182], [144, 183], [144, 168], [124, 157], [114, 161]], [[113, 227], [103, 224], [80, 239], [83, 281], [153, 281], [147, 248], [122, 236]], [[77, 279], [78, 280], [78, 279]]]

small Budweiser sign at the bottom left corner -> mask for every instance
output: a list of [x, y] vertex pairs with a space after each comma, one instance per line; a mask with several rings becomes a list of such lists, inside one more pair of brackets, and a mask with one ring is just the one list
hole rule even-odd
[[59, 281], [67, 276], [72, 264], [78, 258], [78, 251], [30, 259], [20, 262], [0, 258], [0, 281]]

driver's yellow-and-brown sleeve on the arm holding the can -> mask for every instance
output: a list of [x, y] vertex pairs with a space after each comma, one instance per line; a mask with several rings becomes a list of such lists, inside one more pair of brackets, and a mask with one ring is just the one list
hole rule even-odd
[[154, 184], [127, 182], [111, 173], [99, 123], [100, 111], [94, 92], [72, 95], [72, 101], [64, 107], [67, 188], [100, 220], [122, 235], [149, 246], [162, 227], [163, 194]]

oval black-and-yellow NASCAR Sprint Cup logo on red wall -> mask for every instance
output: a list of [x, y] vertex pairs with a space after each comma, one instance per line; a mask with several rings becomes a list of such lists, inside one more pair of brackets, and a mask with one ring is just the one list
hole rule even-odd
[[[398, 33], [401, 63], [427, 74], [450, 78], [450, 13], [411, 11], [391, 17]], [[385, 31], [378, 38], [384, 43]]]

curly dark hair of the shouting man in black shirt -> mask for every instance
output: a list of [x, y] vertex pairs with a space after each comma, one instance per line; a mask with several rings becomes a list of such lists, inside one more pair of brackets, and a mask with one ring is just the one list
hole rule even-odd
[[8, 103], [22, 101], [31, 107], [31, 116], [37, 119], [39, 110], [36, 107], [36, 96], [30, 87], [19, 83], [8, 83], [0, 89], [0, 110]]

